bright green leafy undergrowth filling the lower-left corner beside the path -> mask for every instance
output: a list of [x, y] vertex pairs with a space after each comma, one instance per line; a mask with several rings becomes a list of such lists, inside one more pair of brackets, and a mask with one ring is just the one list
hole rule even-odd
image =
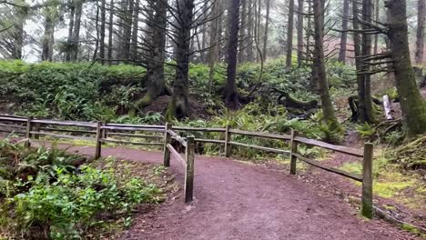
[[85, 163], [56, 147], [0, 141], [0, 238], [100, 236], [117, 223], [130, 225], [137, 205], [161, 200], [156, 185], [114, 159]]

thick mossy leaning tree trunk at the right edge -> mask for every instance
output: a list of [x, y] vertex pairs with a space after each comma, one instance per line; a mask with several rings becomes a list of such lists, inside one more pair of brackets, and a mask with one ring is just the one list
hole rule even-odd
[[426, 104], [416, 85], [411, 65], [408, 41], [407, 5], [405, 0], [386, 2], [389, 9], [389, 37], [395, 73], [395, 83], [401, 101], [407, 135], [414, 137], [426, 132]]

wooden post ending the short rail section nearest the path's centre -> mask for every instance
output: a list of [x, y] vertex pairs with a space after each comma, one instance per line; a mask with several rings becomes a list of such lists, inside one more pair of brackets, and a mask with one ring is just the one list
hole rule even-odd
[[194, 158], [195, 158], [195, 137], [187, 137], [187, 167], [185, 171], [185, 203], [192, 202], [194, 191]]

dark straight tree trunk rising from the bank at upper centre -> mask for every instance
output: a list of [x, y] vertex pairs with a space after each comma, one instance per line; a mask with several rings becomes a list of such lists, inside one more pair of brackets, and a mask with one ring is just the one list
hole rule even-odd
[[239, 27], [239, 0], [232, 0], [229, 7], [229, 38], [228, 38], [228, 69], [227, 84], [225, 85], [225, 105], [231, 109], [239, 107], [237, 90], [237, 52], [238, 52], [238, 27]]

